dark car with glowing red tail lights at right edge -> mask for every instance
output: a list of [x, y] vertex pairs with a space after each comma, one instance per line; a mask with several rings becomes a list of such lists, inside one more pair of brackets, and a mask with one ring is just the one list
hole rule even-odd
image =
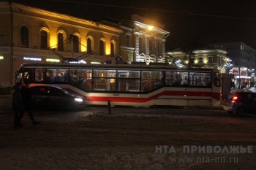
[[256, 113], [256, 93], [230, 93], [230, 96], [224, 101], [223, 109], [238, 116], [244, 116], [246, 113]]

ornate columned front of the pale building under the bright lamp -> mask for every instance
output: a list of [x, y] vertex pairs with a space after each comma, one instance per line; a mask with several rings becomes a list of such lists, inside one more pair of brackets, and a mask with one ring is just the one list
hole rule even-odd
[[147, 18], [132, 15], [135, 43], [135, 61], [146, 63], [165, 62], [165, 41], [170, 32], [164, 26]]

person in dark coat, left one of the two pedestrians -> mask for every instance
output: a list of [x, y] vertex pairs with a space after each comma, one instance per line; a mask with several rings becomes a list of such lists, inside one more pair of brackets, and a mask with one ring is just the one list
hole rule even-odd
[[12, 110], [14, 111], [14, 128], [22, 127], [20, 121], [23, 117], [23, 97], [21, 89], [23, 85], [18, 82], [14, 85], [14, 92], [12, 93]]

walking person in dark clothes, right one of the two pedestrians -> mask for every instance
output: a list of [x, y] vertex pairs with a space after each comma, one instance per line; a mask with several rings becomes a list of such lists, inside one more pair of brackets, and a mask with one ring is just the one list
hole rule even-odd
[[32, 112], [32, 98], [31, 98], [31, 91], [29, 88], [29, 83], [26, 83], [25, 86], [23, 86], [22, 90], [22, 97], [23, 97], [23, 107], [24, 111], [26, 111], [33, 123], [33, 125], [37, 125], [39, 122], [34, 120], [33, 112]]

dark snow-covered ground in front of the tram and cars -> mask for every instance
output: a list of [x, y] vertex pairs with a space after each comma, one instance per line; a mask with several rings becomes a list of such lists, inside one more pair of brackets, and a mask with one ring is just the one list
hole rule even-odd
[[[41, 124], [32, 126], [26, 116], [24, 127], [14, 130], [12, 114], [0, 115], [1, 170], [256, 169], [254, 116], [166, 117], [40, 111], [36, 118]], [[253, 152], [157, 153], [156, 146], [164, 145], [176, 149], [186, 145], [252, 145]], [[216, 157], [238, 160], [216, 163], [207, 159]], [[175, 162], [173, 158], [194, 160]]]

